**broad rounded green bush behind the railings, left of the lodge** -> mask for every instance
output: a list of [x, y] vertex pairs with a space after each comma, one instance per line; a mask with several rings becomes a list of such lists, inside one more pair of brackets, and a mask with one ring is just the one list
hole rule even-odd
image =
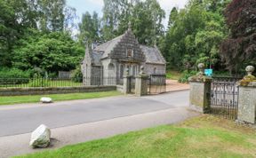
[[69, 71], [80, 65], [83, 55], [84, 49], [67, 33], [33, 30], [19, 40], [12, 64], [23, 70], [40, 67], [47, 72]]

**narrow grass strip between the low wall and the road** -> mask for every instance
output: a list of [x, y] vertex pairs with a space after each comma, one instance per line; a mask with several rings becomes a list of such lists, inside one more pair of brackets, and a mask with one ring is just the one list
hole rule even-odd
[[34, 103], [34, 102], [38, 102], [42, 97], [50, 97], [53, 99], [53, 101], [60, 101], [60, 100], [73, 100], [73, 99], [96, 99], [96, 98], [111, 97], [111, 96], [117, 96], [117, 95], [121, 95], [121, 93], [118, 91], [104, 91], [104, 92], [70, 93], [70, 94], [0, 97], [0, 105]]

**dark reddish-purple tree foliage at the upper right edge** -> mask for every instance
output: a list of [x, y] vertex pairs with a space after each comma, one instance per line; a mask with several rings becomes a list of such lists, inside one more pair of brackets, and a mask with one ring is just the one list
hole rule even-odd
[[221, 44], [221, 56], [233, 74], [256, 61], [255, 0], [233, 0], [225, 11], [230, 35]]

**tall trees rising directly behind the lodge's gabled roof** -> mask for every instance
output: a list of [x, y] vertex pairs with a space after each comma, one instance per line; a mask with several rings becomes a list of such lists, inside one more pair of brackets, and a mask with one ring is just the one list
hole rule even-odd
[[158, 36], [164, 35], [162, 20], [165, 12], [156, 0], [128, 1], [104, 0], [102, 34], [108, 41], [124, 34], [129, 21], [140, 43], [152, 45]]

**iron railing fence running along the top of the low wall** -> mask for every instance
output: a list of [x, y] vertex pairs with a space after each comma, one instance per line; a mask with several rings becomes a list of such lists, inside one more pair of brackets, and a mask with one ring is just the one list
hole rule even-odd
[[71, 78], [5, 78], [0, 77], [0, 89], [38, 88], [38, 87], [83, 87], [90, 85], [116, 85], [116, 77], [84, 77], [84, 81], [76, 82]]

